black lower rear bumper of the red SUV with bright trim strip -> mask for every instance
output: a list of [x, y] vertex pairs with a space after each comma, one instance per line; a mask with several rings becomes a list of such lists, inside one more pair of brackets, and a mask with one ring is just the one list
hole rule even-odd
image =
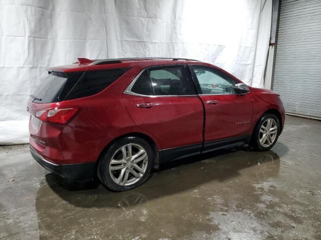
[[94, 179], [95, 162], [56, 164], [44, 158], [31, 145], [30, 152], [40, 165], [67, 180], [88, 181]]

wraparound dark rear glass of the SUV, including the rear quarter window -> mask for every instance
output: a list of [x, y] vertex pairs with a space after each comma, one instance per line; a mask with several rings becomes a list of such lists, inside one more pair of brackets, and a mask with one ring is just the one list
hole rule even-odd
[[52, 71], [32, 94], [34, 102], [48, 103], [94, 95], [117, 80], [128, 68], [85, 72]]

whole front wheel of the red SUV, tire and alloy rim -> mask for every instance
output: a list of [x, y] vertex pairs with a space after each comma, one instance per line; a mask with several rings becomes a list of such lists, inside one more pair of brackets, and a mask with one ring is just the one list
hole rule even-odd
[[[276, 132], [275, 132], [275, 129], [269, 130], [269, 131], [265, 130], [265, 133], [262, 132], [262, 131], [264, 131], [264, 127], [266, 128], [266, 126], [267, 126], [267, 124], [269, 124], [269, 122], [272, 122], [272, 125], [271, 125], [271, 127], [269, 127], [269, 129], [273, 129], [276, 126], [277, 127]], [[262, 125], [263, 125], [263, 127], [262, 127]], [[261, 128], [262, 128], [262, 131], [261, 131]], [[251, 139], [251, 146], [255, 150], [259, 150], [259, 151], [265, 151], [265, 150], [271, 149], [274, 146], [274, 144], [276, 143], [277, 138], [279, 137], [280, 129], [281, 129], [280, 128], [280, 121], [277, 118], [277, 116], [272, 113], [264, 113], [253, 130], [252, 139]], [[274, 134], [272, 134], [272, 132], [273, 133], [275, 132], [274, 133], [275, 136], [274, 136]], [[267, 134], [265, 141], [264, 141], [265, 136], [263, 134]], [[270, 135], [271, 137], [269, 137], [268, 135]], [[261, 141], [260, 141], [260, 139], [261, 139]]]

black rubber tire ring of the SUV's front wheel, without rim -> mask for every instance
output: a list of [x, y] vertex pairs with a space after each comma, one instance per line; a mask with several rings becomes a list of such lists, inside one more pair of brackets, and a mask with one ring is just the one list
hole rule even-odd
[[[261, 128], [262, 124], [263, 124], [267, 119], [269, 119], [269, 118], [274, 119], [275, 122], [276, 122], [276, 124], [277, 124], [277, 135], [276, 135], [276, 138], [275, 138], [273, 144], [271, 144], [270, 146], [262, 146], [261, 143], [260, 143], [260, 138], [259, 138], [259, 137], [260, 137], [260, 128]], [[254, 129], [254, 131], [253, 131], [252, 146], [253, 146], [255, 149], [261, 150], [261, 151], [271, 149], [271, 148], [275, 145], [275, 143], [276, 143], [276, 141], [277, 141], [277, 139], [278, 139], [278, 137], [279, 137], [279, 135], [280, 135], [280, 130], [281, 130], [281, 128], [280, 128], [280, 121], [279, 121], [279, 119], [277, 118], [277, 116], [274, 115], [274, 114], [272, 114], [272, 113], [265, 113], [265, 114], [261, 117], [260, 121], [256, 124], [255, 129]]]

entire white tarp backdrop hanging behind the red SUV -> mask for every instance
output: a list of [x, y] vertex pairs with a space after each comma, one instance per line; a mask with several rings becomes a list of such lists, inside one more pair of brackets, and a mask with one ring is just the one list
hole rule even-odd
[[0, 145], [28, 142], [47, 67], [77, 57], [180, 56], [263, 86], [272, 0], [0, 0]]

